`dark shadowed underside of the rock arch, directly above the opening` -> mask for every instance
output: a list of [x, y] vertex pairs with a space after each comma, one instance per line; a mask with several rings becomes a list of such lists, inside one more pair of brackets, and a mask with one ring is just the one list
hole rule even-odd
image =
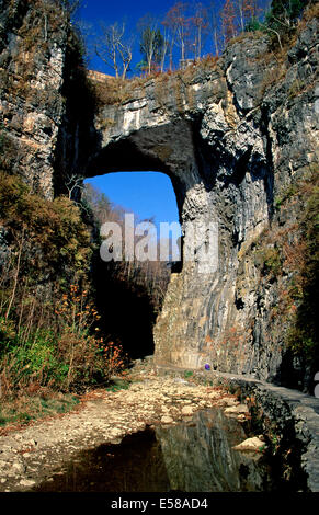
[[186, 192], [201, 182], [190, 122], [182, 119], [122, 134], [91, 157], [87, 176], [148, 170], [166, 173], [171, 179], [183, 222]]

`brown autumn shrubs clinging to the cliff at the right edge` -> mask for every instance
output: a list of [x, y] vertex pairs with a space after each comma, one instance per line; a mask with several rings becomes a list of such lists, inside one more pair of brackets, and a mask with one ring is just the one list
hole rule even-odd
[[[286, 225], [266, 231], [254, 249], [261, 287], [276, 283], [272, 317], [280, 337], [310, 373], [319, 366], [319, 184], [317, 169], [288, 186], [275, 201], [276, 216]], [[294, 206], [295, 216], [288, 213]], [[275, 243], [274, 243], [275, 242]]]

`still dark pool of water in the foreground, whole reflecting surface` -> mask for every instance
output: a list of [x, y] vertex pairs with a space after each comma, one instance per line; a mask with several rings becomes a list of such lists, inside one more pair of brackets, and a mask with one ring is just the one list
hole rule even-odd
[[65, 470], [34, 490], [50, 492], [229, 492], [272, 489], [260, 454], [232, 446], [247, 438], [223, 411], [196, 413], [175, 426], [127, 436], [119, 445], [80, 453]]

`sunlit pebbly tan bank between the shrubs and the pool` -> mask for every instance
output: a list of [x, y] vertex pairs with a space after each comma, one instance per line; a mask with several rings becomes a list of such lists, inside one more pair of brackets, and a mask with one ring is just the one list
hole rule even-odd
[[0, 491], [29, 491], [60, 471], [79, 450], [117, 444], [146, 425], [175, 424], [201, 409], [239, 404], [221, 389], [135, 370], [128, 390], [100, 390], [78, 412], [0, 436]]

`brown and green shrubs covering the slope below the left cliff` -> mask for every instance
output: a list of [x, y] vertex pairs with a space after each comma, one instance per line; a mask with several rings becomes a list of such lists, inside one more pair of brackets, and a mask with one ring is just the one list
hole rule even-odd
[[79, 207], [1, 173], [0, 227], [9, 249], [0, 263], [0, 394], [107, 381], [115, 368], [110, 373], [107, 342], [96, 336], [87, 286], [92, 249]]

